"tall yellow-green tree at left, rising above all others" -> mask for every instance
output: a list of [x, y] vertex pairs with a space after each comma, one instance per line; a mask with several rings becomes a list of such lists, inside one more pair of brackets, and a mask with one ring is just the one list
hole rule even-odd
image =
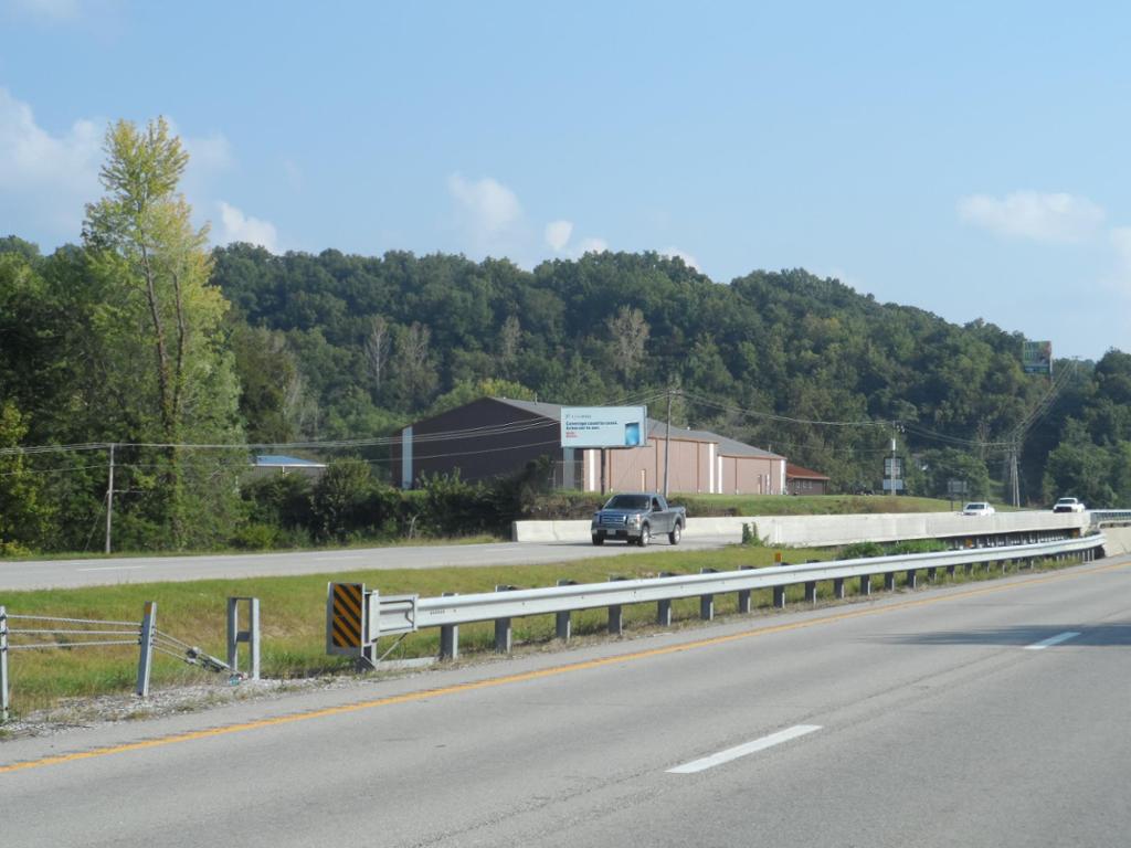
[[87, 206], [83, 239], [114, 304], [107, 340], [120, 367], [112, 379], [131, 384], [136, 431], [122, 440], [164, 445], [152, 517], [183, 547], [218, 529], [209, 516], [231, 508], [225, 493], [234, 495], [234, 486], [217, 485], [222, 462], [188, 466], [180, 448], [189, 439], [232, 442], [241, 435], [239, 387], [222, 328], [228, 304], [209, 285], [207, 227], [193, 227], [178, 192], [189, 157], [165, 120], [145, 129], [119, 121], [106, 132], [105, 153], [100, 178], [106, 193]]

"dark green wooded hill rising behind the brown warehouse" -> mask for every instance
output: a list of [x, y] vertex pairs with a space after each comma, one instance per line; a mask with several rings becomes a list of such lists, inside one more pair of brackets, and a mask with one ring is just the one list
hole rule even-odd
[[[917, 491], [946, 494], [946, 481], [960, 477], [984, 493], [1002, 476], [1002, 442], [1050, 390], [1047, 378], [1022, 373], [1020, 332], [958, 327], [803, 270], [720, 285], [655, 253], [588, 254], [533, 271], [397, 252], [276, 257], [248, 245], [215, 260], [213, 279], [239, 318], [244, 383], [260, 383], [257, 363], [284, 360], [275, 400], [244, 398], [249, 435], [265, 441], [356, 436], [491, 392], [646, 399], [658, 415], [677, 387], [677, 424], [770, 447], [838, 490], [878, 487], [895, 431], [900, 453], [917, 458], [908, 462]], [[1074, 373], [1024, 442], [1022, 496], [1122, 496], [1125, 477], [1077, 479], [1055, 465], [1045, 481], [1045, 471], [1062, 433], [1078, 450], [1131, 438], [1131, 357], [1063, 367]], [[301, 399], [280, 416], [288, 392]], [[1069, 417], [1082, 430], [1065, 430]]]

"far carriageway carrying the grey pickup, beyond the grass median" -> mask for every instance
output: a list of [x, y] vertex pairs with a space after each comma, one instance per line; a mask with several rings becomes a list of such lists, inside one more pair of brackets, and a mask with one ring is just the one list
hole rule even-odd
[[481, 545], [420, 545], [302, 551], [282, 554], [227, 554], [200, 556], [128, 556], [87, 560], [36, 560], [0, 562], [0, 590], [53, 589], [114, 583], [150, 583], [183, 580], [239, 579], [321, 574], [364, 569], [442, 569], [476, 565], [534, 565], [593, 556], [620, 556], [641, 551], [709, 550], [734, 544], [732, 537], [684, 537], [679, 548], [666, 539], [647, 548], [588, 542], [499, 542]]

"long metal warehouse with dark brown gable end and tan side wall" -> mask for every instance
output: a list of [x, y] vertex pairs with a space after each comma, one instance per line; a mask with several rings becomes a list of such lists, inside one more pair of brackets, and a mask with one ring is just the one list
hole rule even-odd
[[561, 410], [556, 404], [483, 398], [418, 421], [405, 427], [394, 444], [394, 476], [403, 488], [413, 488], [425, 474], [456, 469], [464, 479], [482, 481], [549, 456], [561, 488], [650, 491], [663, 487], [665, 453], [670, 453], [672, 492], [786, 493], [785, 457], [682, 427], [672, 427], [667, 451], [667, 425], [654, 418], [648, 419], [648, 443], [639, 448], [562, 448]]

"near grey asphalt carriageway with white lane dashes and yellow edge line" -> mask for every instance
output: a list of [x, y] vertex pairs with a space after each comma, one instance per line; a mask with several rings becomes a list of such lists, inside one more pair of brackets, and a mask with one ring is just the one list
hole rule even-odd
[[0, 743], [27, 846], [1111, 846], [1131, 559]]

